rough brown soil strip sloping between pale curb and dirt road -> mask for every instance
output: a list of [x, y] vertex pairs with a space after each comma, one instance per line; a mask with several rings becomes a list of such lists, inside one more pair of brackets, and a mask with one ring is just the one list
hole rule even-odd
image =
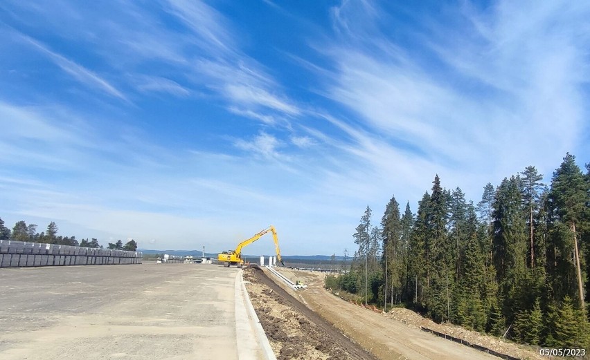
[[278, 360], [375, 360], [256, 267], [244, 270], [251, 303]]

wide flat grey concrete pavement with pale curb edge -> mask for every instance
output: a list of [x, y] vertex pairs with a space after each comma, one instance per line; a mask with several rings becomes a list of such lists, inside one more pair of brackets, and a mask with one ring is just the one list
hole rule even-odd
[[0, 269], [0, 359], [264, 359], [259, 339], [240, 335], [256, 330], [236, 275], [204, 264]]

